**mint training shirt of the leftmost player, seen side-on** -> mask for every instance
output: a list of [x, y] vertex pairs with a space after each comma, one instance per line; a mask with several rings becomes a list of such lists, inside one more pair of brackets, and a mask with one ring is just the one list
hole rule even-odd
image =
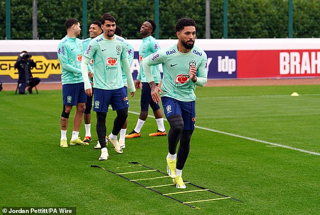
[[77, 84], [83, 82], [81, 74], [82, 41], [67, 35], [58, 44], [58, 59], [61, 65], [62, 84]]

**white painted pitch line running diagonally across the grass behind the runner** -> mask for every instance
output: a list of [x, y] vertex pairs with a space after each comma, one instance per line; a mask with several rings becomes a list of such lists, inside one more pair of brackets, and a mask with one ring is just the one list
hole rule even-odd
[[[134, 111], [128, 111], [129, 113], [132, 114], [136, 114], [139, 115], [140, 113], [134, 112]], [[154, 118], [154, 116], [148, 115], [148, 117]], [[166, 121], [168, 121], [167, 119], [164, 119]], [[307, 150], [302, 150], [302, 149], [298, 149], [298, 148], [294, 148], [294, 147], [288, 147], [285, 145], [281, 145], [281, 144], [275, 144], [274, 142], [268, 142], [268, 141], [264, 141], [264, 140], [260, 140], [260, 139], [255, 139], [255, 138], [251, 138], [251, 137], [246, 137], [246, 136], [241, 136], [238, 134], [234, 134], [234, 133], [228, 133], [228, 132], [224, 132], [224, 131], [220, 131], [220, 130], [215, 130], [215, 129], [210, 129], [210, 128], [205, 128], [205, 127], [201, 127], [201, 126], [195, 126], [196, 128], [200, 128], [203, 130], [208, 130], [208, 131], [212, 131], [212, 132], [216, 132], [216, 133], [222, 133], [222, 134], [226, 134], [229, 136], [235, 136], [235, 137], [239, 137], [239, 138], [243, 138], [243, 139], [248, 139], [251, 141], [255, 141], [255, 142], [261, 142], [262, 144], [269, 144], [272, 146], [276, 146], [276, 147], [281, 147], [281, 148], [285, 148], [285, 149], [289, 149], [289, 150], [295, 150], [295, 151], [299, 151], [299, 152], [303, 152], [303, 153], [308, 153], [308, 154], [312, 154], [312, 155], [318, 155], [320, 156], [320, 153], [316, 153], [316, 152], [311, 152], [311, 151], [307, 151]]]

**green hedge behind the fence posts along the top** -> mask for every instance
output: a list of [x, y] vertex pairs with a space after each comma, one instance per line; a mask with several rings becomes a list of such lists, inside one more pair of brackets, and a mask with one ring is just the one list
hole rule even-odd
[[[229, 0], [228, 38], [285, 38], [288, 36], [288, 0]], [[139, 39], [139, 28], [154, 19], [152, 0], [88, 1], [88, 25], [110, 12], [122, 27], [123, 35]], [[176, 38], [174, 27], [181, 17], [191, 17], [198, 25], [197, 37], [205, 38], [205, 0], [160, 0], [159, 36]], [[293, 0], [293, 36], [319, 37], [320, 0]], [[32, 39], [32, 0], [11, 0], [11, 39]], [[0, 0], [0, 39], [6, 36], [6, 0]], [[39, 39], [65, 36], [64, 21], [82, 21], [81, 0], [38, 0]], [[210, 37], [223, 37], [223, 0], [210, 1]], [[88, 27], [87, 27], [88, 29]], [[88, 33], [87, 33], [88, 35]]]

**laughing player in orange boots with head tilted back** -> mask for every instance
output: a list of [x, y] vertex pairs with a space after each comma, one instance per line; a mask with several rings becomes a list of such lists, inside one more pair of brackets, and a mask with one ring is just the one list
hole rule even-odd
[[[137, 76], [137, 80], [135, 82], [136, 89], [141, 88], [142, 83], [142, 90], [141, 90], [141, 100], [140, 100], [140, 115], [136, 124], [136, 127], [126, 135], [127, 138], [134, 138], [140, 137], [140, 130], [148, 117], [148, 108], [149, 105], [153, 110], [153, 114], [155, 117], [155, 121], [157, 123], [158, 129], [154, 133], [150, 133], [149, 136], [164, 136], [167, 135], [166, 128], [164, 125], [164, 119], [162, 110], [158, 104], [154, 103], [151, 99], [151, 89], [149, 84], [147, 83], [144, 70], [142, 67], [142, 60], [146, 56], [156, 52], [159, 50], [159, 44], [157, 41], [151, 36], [151, 34], [155, 31], [156, 25], [153, 20], [145, 21], [141, 28], [140, 34], [142, 35], [142, 44], [139, 48], [139, 60], [140, 60], [140, 69]], [[158, 65], [151, 66], [153, 80], [156, 85], [161, 82], [161, 76]]]

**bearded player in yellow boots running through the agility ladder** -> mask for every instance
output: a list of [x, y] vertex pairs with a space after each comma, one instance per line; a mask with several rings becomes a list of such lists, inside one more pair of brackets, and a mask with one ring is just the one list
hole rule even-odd
[[[189, 154], [195, 125], [194, 90], [195, 86], [203, 87], [207, 82], [207, 57], [203, 50], [194, 45], [196, 23], [193, 19], [179, 19], [176, 32], [179, 39], [177, 44], [149, 55], [142, 63], [152, 99], [155, 103], [162, 101], [170, 124], [167, 172], [177, 188], [186, 188], [182, 180], [182, 169]], [[150, 68], [151, 65], [159, 63], [163, 63], [164, 68], [161, 88], [156, 86]]]

